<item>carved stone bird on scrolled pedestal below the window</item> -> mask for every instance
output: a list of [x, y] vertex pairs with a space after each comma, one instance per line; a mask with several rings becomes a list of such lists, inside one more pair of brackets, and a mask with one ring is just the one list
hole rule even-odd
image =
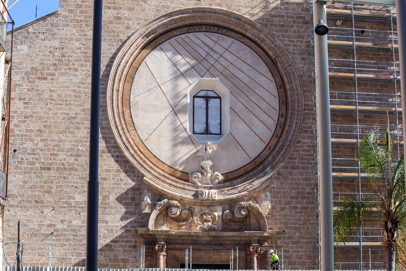
[[214, 146], [207, 142], [206, 146], [201, 147], [197, 152], [196, 156], [199, 156], [200, 165], [202, 167], [201, 171], [195, 171], [190, 174], [190, 182], [197, 185], [214, 185], [218, 184], [224, 177], [218, 173], [213, 172], [213, 163], [210, 158], [214, 154]]

